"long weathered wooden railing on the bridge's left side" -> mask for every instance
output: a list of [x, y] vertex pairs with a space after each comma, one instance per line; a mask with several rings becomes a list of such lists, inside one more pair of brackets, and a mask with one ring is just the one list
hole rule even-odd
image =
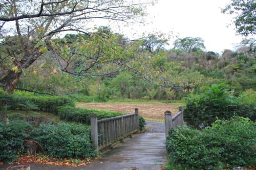
[[91, 115], [91, 133], [95, 150], [111, 147], [125, 137], [132, 137], [133, 133], [140, 131], [139, 109], [135, 113], [97, 120], [97, 114]]

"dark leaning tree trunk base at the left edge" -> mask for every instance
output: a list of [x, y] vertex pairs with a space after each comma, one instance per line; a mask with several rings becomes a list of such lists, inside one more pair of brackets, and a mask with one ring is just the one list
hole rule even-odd
[[22, 72], [14, 72], [12, 70], [9, 71], [8, 74], [2, 80], [0, 80], [0, 83], [4, 85], [4, 90], [9, 94], [13, 93], [13, 90], [15, 89], [21, 75]]

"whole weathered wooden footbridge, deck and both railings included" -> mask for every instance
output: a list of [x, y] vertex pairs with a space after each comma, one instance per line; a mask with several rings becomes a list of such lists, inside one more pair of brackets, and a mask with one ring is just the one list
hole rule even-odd
[[[169, 128], [183, 125], [182, 107], [172, 116], [165, 113], [165, 133], [139, 134], [139, 111], [122, 116], [97, 120], [91, 117], [92, 138], [97, 153], [106, 148], [112, 150], [101, 155], [88, 169], [161, 169], [165, 160], [165, 139]], [[126, 138], [130, 137], [130, 138]], [[126, 139], [125, 139], [126, 138]], [[113, 145], [120, 141], [118, 147]]]

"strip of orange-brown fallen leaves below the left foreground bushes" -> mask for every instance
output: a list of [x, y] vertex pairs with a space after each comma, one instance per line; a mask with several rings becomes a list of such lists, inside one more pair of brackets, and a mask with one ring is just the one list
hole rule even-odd
[[49, 155], [19, 155], [19, 159], [15, 161], [13, 164], [25, 164], [25, 163], [38, 163], [45, 165], [61, 165], [61, 166], [85, 166], [89, 163], [92, 163], [92, 160], [89, 158], [85, 159], [58, 159], [54, 157], [50, 157]]

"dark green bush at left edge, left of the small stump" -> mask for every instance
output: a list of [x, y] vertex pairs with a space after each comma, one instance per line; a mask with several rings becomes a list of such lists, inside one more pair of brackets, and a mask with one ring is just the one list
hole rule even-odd
[[31, 125], [23, 120], [10, 121], [9, 125], [0, 122], [0, 161], [16, 160], [17, 152], [22, 149], [23, 140], [29, 137]]

